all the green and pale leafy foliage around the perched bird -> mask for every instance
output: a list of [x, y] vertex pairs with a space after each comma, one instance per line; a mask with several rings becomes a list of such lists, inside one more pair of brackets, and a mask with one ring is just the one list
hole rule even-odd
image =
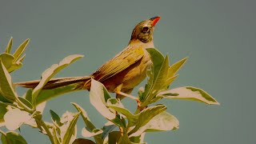
[[[17, 130], [22, 125], [38, 128], [46, 134], [52, 143], [145, 143], [143, 137], [148, 132], [158, 132], [178, 129], [179, 122], [174, 115], [166, 112], [167, 107], [156, 105], [160, 99], [186, 99], [204, 102], [210, 105], [219, 103], [206, 93], [192, 86], [170, 89], [170, 85], [178, 77], [177, 72], [187, 58], [169, 65], [168, 55], [165, 57], [156, 49], [147, 49], [153, 62], [148, 70], [148, 81], [144, 88], [138, 90], [138, 108], [133, 113], [122, 105], [118, 98], [112, 98], [102, 83], [92, 79], [90, 89], [90, 103], [108, 121], [102, 128], [94, 126], [83, 110], [82, 106], [71, 102], [78, 112], [66, 111], [60, 117], [50, 110], [52, 122], [44, 122], [42, 112], [46, 102], [57, 95], [74, 90], [74, 86], [63, 86], [54, 90], [42, 90], [42, 87], [60, 70], [69, 66], [82, 55], [70, 55], [59, 64], [50, 66], [42, 73], [41, 81], [34, 90], [27, 90], [20, 96], [15, 90], [10, 73], [22, 66], [25, 55], [22, 56], [29, 42], [27, 39], [14, 54], [10, 54], [13, 39], [6, 46], [5, 52], [0, 54], [0, 128], [5, 126], [8, 132], [0, 130], [2, 143], [26, 143]], [[77, 138], [79, 116], [85, 123], [82, 129], [84, 138]], [[118, 129], [115, 129], [118, 127]], [[92, 137], [94, 142], [86, 139]]]

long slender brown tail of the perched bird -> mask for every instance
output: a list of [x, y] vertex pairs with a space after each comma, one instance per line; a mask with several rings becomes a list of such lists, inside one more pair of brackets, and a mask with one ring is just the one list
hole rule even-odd
[[[91, 81], [91, 76], [53, 78], [53, 79], [50, 79], [50, 81], [47, 82], [42, 89], [49, 90], [49, 89], [54, 89], [54, 88], [67, 86], [71, 84], [78, 84], [78, 89], [90, 90], [90, 81]], [[38, 86], [39, 82], [40, 80], [29, 81], [29, 82], [17, 82], [17, 83], [14, 83], [14, 85], [34, 89], [36, 86]]]

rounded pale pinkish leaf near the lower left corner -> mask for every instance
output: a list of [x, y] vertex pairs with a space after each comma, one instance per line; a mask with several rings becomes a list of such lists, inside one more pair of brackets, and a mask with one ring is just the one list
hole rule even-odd
[[16, 130], [22, 126], [24, 122], [29, 121], [31, 116], [26, 111], [11, 109], [6, 112], [3, 118], [8, 130]]

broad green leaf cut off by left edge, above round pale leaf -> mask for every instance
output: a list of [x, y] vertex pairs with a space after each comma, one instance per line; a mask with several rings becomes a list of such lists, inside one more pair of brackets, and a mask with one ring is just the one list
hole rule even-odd
[[6, 70], [6, 67], [2, 64], [1, 60], [0, 63], [0, 92], [5, 98], [9, 100], [14, 100], [16, 97], [16, 93], [14, 92], [14, 87], [11, 82], [10, 74]]

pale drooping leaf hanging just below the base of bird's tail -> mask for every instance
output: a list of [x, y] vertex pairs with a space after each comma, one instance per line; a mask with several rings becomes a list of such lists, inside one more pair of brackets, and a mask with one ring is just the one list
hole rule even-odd
[[102, 114], [105, 118], [111, 120], [115, 118], [115, 114], [112, 113], [106, 106], [106, 100], [110, 98], [110, 94], [107, 93], [105, 86], [102, 83], [91, 80], [90, 87], [90, 103]]

